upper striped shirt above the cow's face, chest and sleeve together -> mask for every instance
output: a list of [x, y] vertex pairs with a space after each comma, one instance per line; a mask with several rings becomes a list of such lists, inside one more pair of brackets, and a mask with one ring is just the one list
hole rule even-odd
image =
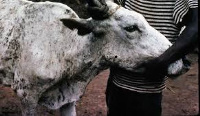
[[[144, 15], [147, 22], [174, 42], [181, 30], [181, 22], [189, 8], [198, 7], [197, 0], [115, 0], [129, 10]], [[124, 3], [125, 2], [125, 3]], [[161, 25], [159, 25], [159, 24]], [[163, 25], [167, 25], [163, 26]], [[169, 32], [166, 32], [169, 31]]]

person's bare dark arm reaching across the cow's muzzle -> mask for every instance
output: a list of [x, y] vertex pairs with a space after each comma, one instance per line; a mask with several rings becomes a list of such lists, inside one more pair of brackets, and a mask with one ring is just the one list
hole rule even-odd
[[192, 8], [183, 19], [186, 26], [177, 41], [167, 49], [157, 60], [163, 65], [169, 65], [182, 58], [198, 44], [198, 9]]

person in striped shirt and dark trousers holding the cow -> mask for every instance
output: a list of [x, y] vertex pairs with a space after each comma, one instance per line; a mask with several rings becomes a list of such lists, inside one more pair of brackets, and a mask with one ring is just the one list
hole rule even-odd
[[[107, 82], [108, 116], [160, 116], [162, 90], [167, 67], [183, 58], [198, 43], [197, 0], [114, 0], [143, 14], [147, 22], [165, 35], [173, 45], [159, 57], [142, 64], [145, 72], [111, 67]], [[98, 20], [106, 17], [105, 0], [88, 0], [88, 12]], [[96, 6], [95, 6], [96, 5]], [[95, 13], [92, 13], [95, 12]], [[181, 28], [185, 29], [181, 32]], [[139, 70], [139, 69], [138, 69]]]

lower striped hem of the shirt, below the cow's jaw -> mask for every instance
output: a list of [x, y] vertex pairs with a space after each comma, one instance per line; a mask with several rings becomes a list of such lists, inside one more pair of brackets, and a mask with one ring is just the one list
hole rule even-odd
[[159, 93], [165, 88], [165, 77], [162, 81], [149, 81], [143, 73], [130, 72], [121, 68], [111, 68], [110, 78], [113, 83], [124, 89], [142, 93]]

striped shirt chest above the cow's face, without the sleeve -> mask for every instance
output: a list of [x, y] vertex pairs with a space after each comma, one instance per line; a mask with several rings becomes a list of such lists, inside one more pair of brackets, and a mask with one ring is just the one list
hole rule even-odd
[[127, 0], [125, 8], [143, 14], [152, 27], [170, 41], [174, 41], [180, 32], [173, 18], [175, 2], [175, 0]]

